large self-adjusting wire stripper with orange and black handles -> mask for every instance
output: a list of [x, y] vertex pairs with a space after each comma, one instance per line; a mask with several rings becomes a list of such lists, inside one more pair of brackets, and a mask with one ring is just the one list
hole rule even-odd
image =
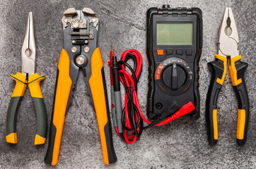
[[103, 60], [97, 47], [98, 18], [91, 8], [82, 11], [69, 8], [64, 12], [62, 23], [64, 49], [59, 57], [45, 163], [56, 165], [58, 162], [65, 114], [72, 101], [79, 70], [83, 70], [87, 93], [97, 116], [104, 163], [115, 163], [117, 157], [112, 142]]

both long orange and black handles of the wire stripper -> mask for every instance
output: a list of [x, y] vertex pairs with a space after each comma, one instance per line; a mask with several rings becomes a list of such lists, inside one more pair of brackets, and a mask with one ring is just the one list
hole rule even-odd
[[[71, 90], [74, 88], [72, 80], [76, 80], [76, 78], [70, 77], [70, 75], [75, 74], [76, 76], [78, 73], [70, 73], [70, 65], [69, 54], [66, 53], [65, 49], [62, 49], [58, 65], [57, 87], [54, 98], [49, 146], [45, 156], [45, 163], [51, 165], [56, 165], [58, 162], [65, 114], [71, 99]], [[115, 163], [117, 157], [112, 142], [112, 130], [110, 113], [108, 110], [103, 61], [100, 55], [100, 49], [98, 48], [95, 49], [91, 56], [91, 77], [89, 79], [89, 85], [98, 119], [100, 139], [103, 149], [103, 160], [105, 164]]]

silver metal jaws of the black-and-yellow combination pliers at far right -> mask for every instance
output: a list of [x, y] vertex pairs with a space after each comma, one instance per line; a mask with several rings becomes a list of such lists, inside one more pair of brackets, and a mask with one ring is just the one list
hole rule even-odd
[[239, 55], [238, 29], [231, 8], [226, 8], [223, 13], [217, 43], [219, 44], [219, 55], [230, 56], [231, 58]]

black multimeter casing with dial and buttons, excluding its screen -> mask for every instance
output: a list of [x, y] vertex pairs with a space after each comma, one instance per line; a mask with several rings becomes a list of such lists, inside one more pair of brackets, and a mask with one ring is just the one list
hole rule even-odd
[[[156, 23], [192, 23], [192, 44], [157, 45]], [[158, 52], [159, 51], [159, 52]], [[192, 101], [194, 111], [182, 118], [199, 118], [199, 58], [202, 53], [202, 11], [199, 8], [149, 8], [146, 12], [146, 54], [149, 60], [147, 115], [156, 119], [170, 106]]]

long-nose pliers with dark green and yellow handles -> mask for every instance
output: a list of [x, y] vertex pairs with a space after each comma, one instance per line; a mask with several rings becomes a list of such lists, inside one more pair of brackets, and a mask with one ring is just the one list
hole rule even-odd
[[35, 73], [35, 33], [33, 24], [33, 13], [28, 13], [28, 23], [25, 27], [25, 35], [21, 47], [21, 73], [11, 75], [11, 78], [16, 81], [11, 101], [8, 105], [6, 113], [6, 142], [18, 143], [16, 120], [18, 107], [25, 94], [25, 89], [29, 87], [30, 94], [33, 98], [35, 113], [37, 117], [37, 132], [35, 135], [35, 144], [45, 144], [47, 132], [47, 115], [45, 102], [40, 89], [40, 82], [45, 79], [45, 76]]

